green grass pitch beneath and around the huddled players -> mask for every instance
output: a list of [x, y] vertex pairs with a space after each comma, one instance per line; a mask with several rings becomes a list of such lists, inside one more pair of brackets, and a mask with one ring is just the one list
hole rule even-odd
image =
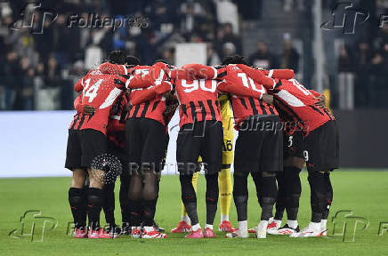
[[[310, 189], [306, 182], [306, 173], [303, 172], [301, 177], [303, 196], [299, 222], [305, 226], [310, 218]], [[183, 239], [183, 235], [171, 234], [168, 234], [167, 239], [153, 241], [128, 237], [98, 241], [73, 239], [66, 235], [67, 223], [71, 221], [68, 205], [69, 178], [4, 179], [0, 180], [0, 255], [386, 255], [388, 234], [378, 236], [377, 233], [380, 222], [388, 222], [387, 180], [388, 172], [333, 173], [335, 198], [332, 212], [352, 210], [353, 216], [369, 221], [365, 230], [361, 230], [362, 225], [358, 226], [354, 242], [343, 242], [343, 236], [304, 239], [268, 236], [260, 241], [252, 236], [244, 240], [230, 240], [224, 238], [221, 233], [217, 233], [217, 238], [200, 240]], [[201, 224], [206, 220], [204, 185], [205, 179], [201, 176], [198, 181], [198, 211]], [[253, 182], [249, 183], [249, 192], [248, 224], [253, 227], [257, 225], [260, 215]], [[170, 230], [180, 220], [181, 215], [177, 176], [162, 177], [159, 198], [156, 219], [161, 227]], [[42, 215], [58, 220], [58, 227], [44, 234], [43, 242], [31, 242], [30, 236], [13, 238], [8, 235], [13, 229], [20, 228], [20, 216], [28, 210], [40, 210]], [[116, 215], [119, 222], [118, 208]], [[216, 224], [220, 221], [218, 215], [219, 213], [214, 222]], [[233, 203], [230, 208], [230, 220], [234, 224], [237, 223]], [[344, 226], [344, 220], [348, 220], [348, 228], [354, 226], [354, 219], [346, 219], [343, 216], [336, 221], [336, 233], [340, 233], [339, 229]], [[26, 227], [31, 227], [28, 223], [26, 220]], [[331, 223], [328, 226], [333, 227]], [[36, 229], [40, 230], [41, 224], [37, 223]], [[330, 233], [332, 232], [329, 231]], [[352, 241], [349, 234], [345, 236], [345, 241]]]

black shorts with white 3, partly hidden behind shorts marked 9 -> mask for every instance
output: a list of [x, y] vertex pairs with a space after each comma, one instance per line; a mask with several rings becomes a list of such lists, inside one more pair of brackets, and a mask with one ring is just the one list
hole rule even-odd
[[284, 133], [283, 136], [283, 155], [284, 158], [287, 157], [300, 157], [303, 158], [304, 150], [304, 138], [302, 132], [294, 132], [292, 135], [287, 135]]

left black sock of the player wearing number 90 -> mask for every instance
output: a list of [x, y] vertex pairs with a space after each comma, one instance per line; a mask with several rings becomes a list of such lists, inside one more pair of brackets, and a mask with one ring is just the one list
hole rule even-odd
[[191, 220], [191, 225], [198, 224], [197, 196], [192, 186], [192, 174], [181, 174], [182, 202]]

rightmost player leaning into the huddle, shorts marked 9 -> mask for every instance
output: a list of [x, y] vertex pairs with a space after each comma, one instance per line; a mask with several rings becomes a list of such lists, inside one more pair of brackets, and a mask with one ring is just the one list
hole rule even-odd
[[[239, 65], [248, 76], [255, 79], [258, 70]], [[295, 79], [263, 80], [263, 85], [273, 95], [280, 116], [300, 124], [303, 131], [303, 156], [309, 172], [311, 188], [311, 222], [292, 237], [325, 236], [327, 216], [333, 200], [330, 172], [338, 168], [339, 147], [335, 116], [327, 108], [317, 108], [320, 94], [307, 90]]]

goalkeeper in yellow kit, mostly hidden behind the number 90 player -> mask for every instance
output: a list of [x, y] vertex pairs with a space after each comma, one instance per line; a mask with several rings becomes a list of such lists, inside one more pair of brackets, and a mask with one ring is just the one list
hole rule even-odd
[[[233, 119], [230, 110], [230, 101], [227, 95], [219, 97], [221, 112], [222, 112], [222, 128], [223, 128], [223, 149], [222, 149], [222, 169], [218, 175], [218, 186], [220, 191], [221, 204], [221, 224], [219, 231], [233, 232], [234, 228], [229, 221], [229, 210], [231, 202], [231, 180], [230, 180], [230, 165], [233, 162]], [[198, 162], [201, 162], [199, 157]], [[192, 178], [192, 184], [197, 191], [197, 180], [199, 172], [195, 172]], [[182, 220], [176, 228], [171, 230], [171, 233], [186, 233], [190, 232], [190, 218], [182, 204]]]

